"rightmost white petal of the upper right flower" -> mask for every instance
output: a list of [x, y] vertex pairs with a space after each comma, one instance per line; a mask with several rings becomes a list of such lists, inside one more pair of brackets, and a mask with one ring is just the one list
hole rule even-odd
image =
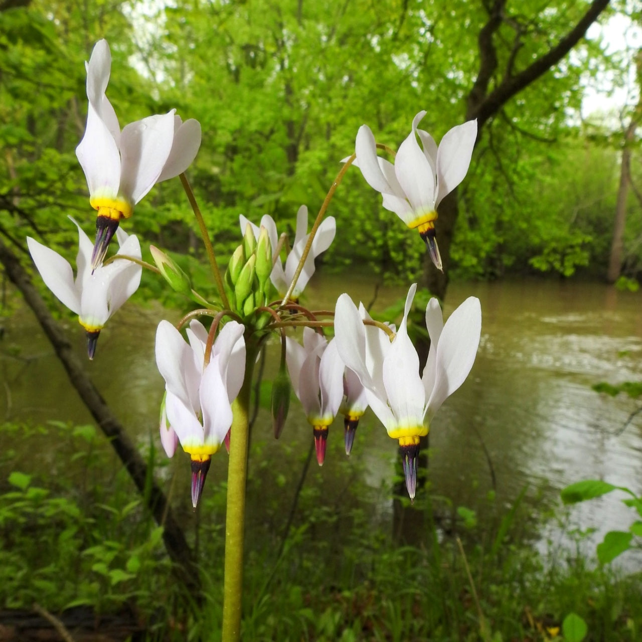
[[464, 180], [477, 138], [477, 121], [457, 125], [447, 132], [437, 152], [437, 195], [435, 207]]

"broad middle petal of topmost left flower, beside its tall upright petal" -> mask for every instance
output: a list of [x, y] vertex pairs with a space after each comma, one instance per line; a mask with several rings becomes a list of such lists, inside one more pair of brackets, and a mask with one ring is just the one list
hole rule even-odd
[[130, 123], [121, 133], [121, 193], [133, 204], [160, 176], [174, 140], [174, 111]]

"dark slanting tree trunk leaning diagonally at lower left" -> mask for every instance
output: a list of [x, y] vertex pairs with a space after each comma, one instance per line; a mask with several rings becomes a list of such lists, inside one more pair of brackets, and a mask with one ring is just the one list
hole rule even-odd
[[165, 548], [169, 557], [173, 562], [176, 562], [181, 580], [187, 588], [198, 590], [200, 581], [191, 548], [187, 544], [182, 528], [173, 516], [165, 494], [155, 481], [148, 482], [148, 467], [140, 453], [128, 437], [123, 426], [114, 417], [105, 399], [98, 392], [98, 388], [94, 386], [89, 375], [85, 372], [82, 363], [74, 354], [69, 340], [67, 340], [51, 316], [44, 300], [42, 300], [39, 292], [31, 283], [31, 279], [19, 259], [10, 248], [4, 245], [1, 238], [0, 264], [4, 266], [10, 281], [21, 291], [24, 300], [37, 318], [60, 363], [64, 366], [71, 385], [76, 389], [80, 399], [87, 406], [87, 410], [91, 412], [92, 417], [94, 417], [121, 462], [123, 462], [126, 471], [141, 492], [141, 496], [146, 501], [154, 519], [164, 527], [163, 540]]

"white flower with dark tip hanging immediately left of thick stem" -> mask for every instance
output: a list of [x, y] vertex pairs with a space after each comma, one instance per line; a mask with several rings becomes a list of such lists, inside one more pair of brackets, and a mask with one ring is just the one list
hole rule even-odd
[[156, 331], [156, 364], [166, 384], [161, 441], [171, 457], [174, 433], [189, 454], [195, 508], [203, 492], [211, 457], [232, 425], [232, 401], [243, 385], [244, 329], [236, 321], [225, 324], [214, 341], [207, 365], [204, 365], [207, 331], [200, 322], [193, 320], [189, 324], [189, 343], [168, 321], [161, 321]]

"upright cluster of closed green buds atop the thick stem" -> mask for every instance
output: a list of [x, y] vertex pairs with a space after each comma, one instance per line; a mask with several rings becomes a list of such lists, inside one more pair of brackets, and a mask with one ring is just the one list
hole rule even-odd
[[252, 226], [247, 225], [243, 243], [232, 254], [225, 271], [225, 292], [233, 312], [247, 318], [270, 302], [275, 294], [270, 273], [272, 244], [268, 230], [261, 227], [256, 239]]

